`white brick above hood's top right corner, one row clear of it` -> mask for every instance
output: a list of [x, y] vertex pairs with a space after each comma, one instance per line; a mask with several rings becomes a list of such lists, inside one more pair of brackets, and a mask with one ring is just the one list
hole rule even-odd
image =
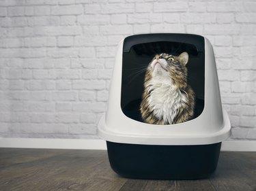
[[191, 23], [191, 24], [214, 23], [216, 22], [216, 16], [214, 14], [208, 14], [208, 13], [182, 14], [181, 22]]

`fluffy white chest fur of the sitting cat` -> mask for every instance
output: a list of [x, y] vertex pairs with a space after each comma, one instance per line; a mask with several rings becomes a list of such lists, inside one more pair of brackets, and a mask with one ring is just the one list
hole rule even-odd
[[171, 77], [154, 77], [149, 84], [150, 90], [153, 90], [147, 99], [150, 107], [158, 118], [171, 124], [178, 109], [187, 102], [186, 97], [174, 86]]

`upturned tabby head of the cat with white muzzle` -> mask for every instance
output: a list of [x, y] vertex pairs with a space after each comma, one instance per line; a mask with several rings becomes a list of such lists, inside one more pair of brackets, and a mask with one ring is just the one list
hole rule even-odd
[[152, 80], [160, 80], [163, 83], [173, 83], [178, 88], [187, 86], [188, 53], [182, 52], [179, 56], [171, 54], [156, 54], [147, 68], [147, 74]]

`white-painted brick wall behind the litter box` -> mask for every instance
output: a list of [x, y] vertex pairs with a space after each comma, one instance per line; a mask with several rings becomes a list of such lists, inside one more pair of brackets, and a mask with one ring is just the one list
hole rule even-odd
[[97, 138], [119, 40], [212, 41], [231, 139], [256, 139], [256, 2], [0, 0], [1, 137]]

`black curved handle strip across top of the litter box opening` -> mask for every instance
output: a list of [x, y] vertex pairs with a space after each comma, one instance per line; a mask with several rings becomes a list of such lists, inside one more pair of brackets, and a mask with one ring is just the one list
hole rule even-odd
[[193, 44], [198, 52], [204, 50], [204, 38], [200, 35], [179, 34], [179, 33], [155, 33], [132, 35], [124, 39], [123, 52], [130, 52], [130, 48], [137, 44], [156, 42], [156, 41], [173, 41], [185, 44]]

